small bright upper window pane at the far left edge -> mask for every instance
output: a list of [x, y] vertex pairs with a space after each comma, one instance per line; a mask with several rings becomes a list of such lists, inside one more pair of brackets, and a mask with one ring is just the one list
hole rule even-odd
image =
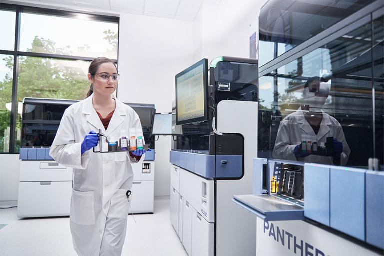
[[14, 50], [14, 38], [16, 27], [16, 12], [8, 10], [0, 10], [1, 24], [1, 50]]

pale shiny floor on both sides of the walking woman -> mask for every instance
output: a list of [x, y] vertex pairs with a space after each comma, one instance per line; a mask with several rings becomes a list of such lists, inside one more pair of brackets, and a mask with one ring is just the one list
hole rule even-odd
[[[122, 255], [187, 256], [169, 220], [169, 197], [154, 201], [154, 214], [128, 216]], [[69, 217], [18, 219], [17, 208], [0, 209], [0, 255], [75, 256]]]

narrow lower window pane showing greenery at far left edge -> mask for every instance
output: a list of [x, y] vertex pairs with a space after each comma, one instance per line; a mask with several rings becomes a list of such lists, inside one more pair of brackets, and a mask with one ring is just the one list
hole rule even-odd
[[0, 54], [0, 152], [9, 152], [12, 83], [13, 56]]

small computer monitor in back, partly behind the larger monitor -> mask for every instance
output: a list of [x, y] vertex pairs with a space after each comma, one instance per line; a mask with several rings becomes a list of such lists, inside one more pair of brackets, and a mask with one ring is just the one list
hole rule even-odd
[[173, 125], [172, 113], [156, 113], [152, 135], [182, 135], [181, 126]]

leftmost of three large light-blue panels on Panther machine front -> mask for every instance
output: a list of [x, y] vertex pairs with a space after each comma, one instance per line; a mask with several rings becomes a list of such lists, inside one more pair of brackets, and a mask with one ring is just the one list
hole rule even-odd
[[329, 166], [320, 164], [305, 164], [304, 173], [304, 216], [329, 226]]

